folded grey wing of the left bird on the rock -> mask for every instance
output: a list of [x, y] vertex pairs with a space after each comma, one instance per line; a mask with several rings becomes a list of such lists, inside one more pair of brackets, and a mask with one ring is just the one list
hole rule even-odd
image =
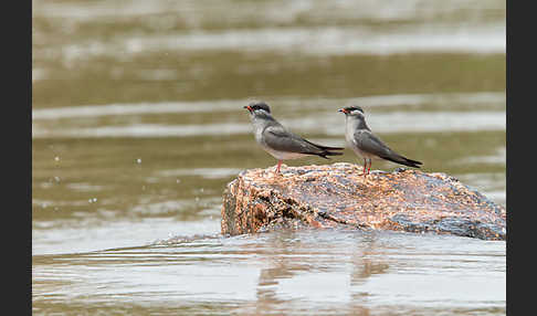
[[297, 154], [319, 154], [323, 150], [283, 126], [268, 126], [263, 130], [263, 139], [275, 150]]

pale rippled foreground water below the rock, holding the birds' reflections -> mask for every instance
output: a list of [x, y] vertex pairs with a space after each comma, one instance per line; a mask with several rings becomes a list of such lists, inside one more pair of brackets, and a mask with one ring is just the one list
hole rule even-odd
[[173, 238], [41, 255], [34, 265], [33, 305], [42, 312], [505, 314], [505, 244], [456, 236], [308, 231]]

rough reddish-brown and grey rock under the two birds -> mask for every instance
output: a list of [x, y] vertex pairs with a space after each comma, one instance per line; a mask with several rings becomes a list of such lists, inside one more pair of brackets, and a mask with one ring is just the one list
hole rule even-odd
[[436, 232], [505, 240], [506, 210], [445, 173], [327, 166], [242, 171], [228, 183], [222, 234], [291, 229]]

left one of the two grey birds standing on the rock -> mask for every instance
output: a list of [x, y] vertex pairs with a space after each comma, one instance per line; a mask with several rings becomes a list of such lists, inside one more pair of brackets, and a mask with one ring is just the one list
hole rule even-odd
[[244, 106], [244, 108], [250, 112], [255, 141], [266, 152], [277, 159], [277, 173], [280, 173], [282, 160], [297, 159], [312, 155], [329, 159], [327, 156], [343, 155], [343, 152], [335, 150], [343, 150], [344, 148], [314, 144], [285, 129], [282, 124], [272, 117], [271, 108], [264, 102], [253, 102]]

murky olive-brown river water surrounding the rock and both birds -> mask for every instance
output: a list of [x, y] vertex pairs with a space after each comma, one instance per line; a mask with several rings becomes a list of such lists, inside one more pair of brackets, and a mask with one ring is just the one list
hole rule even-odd
[[[505, 315], [505, 242], [220, 235], [274, 158], [248, 113], [344, 145], [337, 109], [505, 206], [505, 1], [32, 1], [36, 315]], [[289, 166], [348, 161], [305, 158]], [[396, 165], [375, 162], [372, 169]]]

